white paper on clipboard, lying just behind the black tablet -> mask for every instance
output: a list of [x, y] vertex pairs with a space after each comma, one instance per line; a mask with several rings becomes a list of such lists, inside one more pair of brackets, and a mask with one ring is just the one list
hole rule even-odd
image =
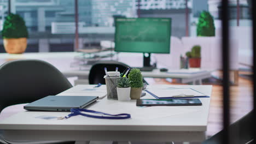
[[155, 94], [158, 98], [170, 98], [177, 95], [193, 95], [194, 97], [206, 96], [192, 88], [166, 88], [166, 89], [149, 89], [149, 92]]

